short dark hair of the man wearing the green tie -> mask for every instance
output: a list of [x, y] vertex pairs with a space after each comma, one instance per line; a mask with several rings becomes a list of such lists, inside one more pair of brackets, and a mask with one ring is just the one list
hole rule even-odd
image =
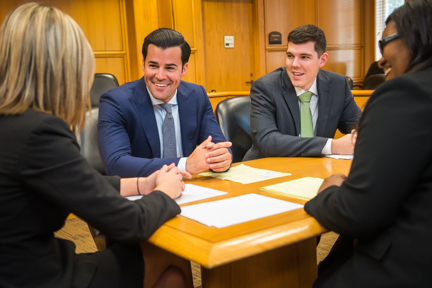
[[315, 51], [320, 57], [327, 50], [327, 40], [324, 31], [315, 25], [303, 25], [295, 28], [288, 34], [288, 43], [304, 44], [307, 42], [315, 43]]

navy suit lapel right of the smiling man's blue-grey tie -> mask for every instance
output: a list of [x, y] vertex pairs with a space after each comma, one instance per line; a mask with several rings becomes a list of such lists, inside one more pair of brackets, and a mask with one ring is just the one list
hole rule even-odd
[[189, 156], [195, 149], [196, 140], [194, 136], [198, 135], [197, 121], [195, 121], [195, 115], [197, 115], [196, 101], [193, 101], [194, 90], [188, 90], [182, 82], [177, 88], [177, 102], [179, 105], [179, 118], [180, 118], [180, 130], [182, 136], [182, 147], [183, 155]]

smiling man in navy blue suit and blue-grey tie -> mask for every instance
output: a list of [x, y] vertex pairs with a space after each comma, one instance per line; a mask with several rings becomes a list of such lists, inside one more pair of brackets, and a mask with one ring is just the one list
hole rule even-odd
[[[98, 144], [107, 174], [148, 176], [171, 163], [191, 174], [228, 170], [231, 143], [216, 122], [204, 87], [181, 81], [191, 53], [183, 35], [155, 30], [144, 39], [142, 53], [144, 77], [100, 99]], [[164, 103], [171, 104], [171, 112]], [[174, 119], [172, 128], [164, 124], [168, 114]], [[171, 148], [162, 144], [164, 137], [174, 140]]]

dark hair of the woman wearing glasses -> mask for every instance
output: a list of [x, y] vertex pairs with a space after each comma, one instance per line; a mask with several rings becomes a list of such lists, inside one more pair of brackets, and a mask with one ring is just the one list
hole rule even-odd
[[411, 0], [394, 11], [386, 25], [390, 21], [411, 56], [405, 72], [432, 67], [432, 0]]

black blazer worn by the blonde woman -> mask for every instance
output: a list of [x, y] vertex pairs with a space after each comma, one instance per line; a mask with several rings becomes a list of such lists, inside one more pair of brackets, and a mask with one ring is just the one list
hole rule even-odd
[[[60, 118], [0, 115], [0, 287], [86, 287], [98, 263], [54, 237], [74, 213], [117, 241], [139, 242], [180, 212], [155, 191], [131, 202], [81, 157]], [[116, 186], [115, 188], [113, 187]]]

